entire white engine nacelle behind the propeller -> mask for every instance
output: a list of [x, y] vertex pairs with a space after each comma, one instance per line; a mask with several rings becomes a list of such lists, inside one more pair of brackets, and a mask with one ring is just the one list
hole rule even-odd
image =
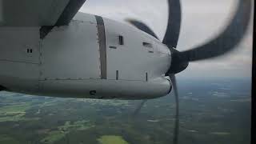
[[0, 28], [0, 85], [69, 98], [158, 98], [170, 93], [170, 50], [107, 18], [78, 13], [40, 39], [39, 27]]

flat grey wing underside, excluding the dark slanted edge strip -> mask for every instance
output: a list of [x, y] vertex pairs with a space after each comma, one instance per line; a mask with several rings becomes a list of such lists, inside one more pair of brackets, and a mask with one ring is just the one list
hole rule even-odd
[[0, 26], [53, 26], [69, 0], [0, 0]]

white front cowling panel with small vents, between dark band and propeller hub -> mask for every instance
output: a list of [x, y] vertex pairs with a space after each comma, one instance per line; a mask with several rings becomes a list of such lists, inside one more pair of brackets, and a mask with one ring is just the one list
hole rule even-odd
[[[162, 46], [156, 38], [134, 26], [127, 26], [107, 18], [104, 18], [104, 23], [106, 46], [116, 47], [116, 49], [106, 49], [108, 79], [116, 79], [115, 70], [119, 71], [119, 80], [130, 81], [145, 82], [146, 73], [149, 81], [165, 74], [170, 67], [170, 55], [159, 52], [157, 47], [163, 47], [168, 52], [166, 46]], [[120, 35], [123, 36], [124, 45], [119, 45]], [[143, 42], [152, 44], [152, 48], [143, 46]]]

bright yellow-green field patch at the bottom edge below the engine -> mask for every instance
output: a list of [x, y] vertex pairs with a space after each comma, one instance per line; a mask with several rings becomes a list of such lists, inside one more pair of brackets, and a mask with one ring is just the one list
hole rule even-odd
[[98, 138], [98, 142], [101, 144], [129, 144], [121, 136], [116, 135], [103, 135], [101, 138]]

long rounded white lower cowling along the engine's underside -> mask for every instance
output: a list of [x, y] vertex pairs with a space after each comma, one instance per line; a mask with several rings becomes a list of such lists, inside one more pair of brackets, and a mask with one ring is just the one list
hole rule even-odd
[[170, 93], [171, 83], [166, 78], [150, 82], [109, 79], [47, 80], [42, 81], [42, 95], [64, 98], [145, 99]]

